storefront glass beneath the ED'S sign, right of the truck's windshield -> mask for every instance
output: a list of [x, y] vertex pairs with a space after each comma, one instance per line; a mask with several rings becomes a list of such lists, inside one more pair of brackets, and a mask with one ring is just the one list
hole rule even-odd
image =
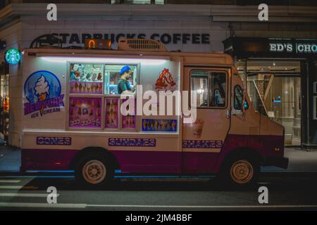
[[247, 92], [254, 108], [285, 127], [285, 144], [301, 144], [300, 62], [248, 60]]

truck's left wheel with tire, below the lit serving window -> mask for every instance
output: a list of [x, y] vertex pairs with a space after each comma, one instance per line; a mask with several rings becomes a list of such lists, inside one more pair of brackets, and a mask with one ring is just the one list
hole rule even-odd
[[84, 186], [107, 186], [113, 180], [113, 167], [102, 155], [86, 155], [77, 163], [75, 177]]

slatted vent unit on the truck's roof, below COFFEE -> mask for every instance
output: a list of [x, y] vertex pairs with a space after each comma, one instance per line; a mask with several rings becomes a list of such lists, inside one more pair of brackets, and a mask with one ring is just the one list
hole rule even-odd
[[160, 41], [153, 39], [119, 39], [118, 50], [123, 51], [167, 51]]

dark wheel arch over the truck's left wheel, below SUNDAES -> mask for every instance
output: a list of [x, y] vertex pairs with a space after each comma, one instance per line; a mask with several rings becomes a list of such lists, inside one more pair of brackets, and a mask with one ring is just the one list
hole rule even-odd
[[116, 160], [114, 155], [108, 150], [106, 150], [106, 148], [97, 147], [97, 146], [89, 146], [86, 148], [82, 148], [82, 150], [79, 150], [79, 152], [71, 160], [69, 168], [71, 170], [75, 170], [80, 160], [82, 158], [85, 158], [87, 155], [101, 155], [102, 157], [110, 160], [111, 166], [113, 167], [113, 169], [119, 168], [118, 160]]

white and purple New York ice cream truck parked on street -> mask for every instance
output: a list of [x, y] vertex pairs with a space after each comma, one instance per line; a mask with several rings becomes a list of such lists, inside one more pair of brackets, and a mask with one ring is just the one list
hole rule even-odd
[[242, 186], [261, 166], [287, 168], [284, 128], [254, 109], [225, 53], [120, 39], [118, 50], [25, 49], [22, 63], [21, 172], [71, 170], [88, 186], [135, 176]]

